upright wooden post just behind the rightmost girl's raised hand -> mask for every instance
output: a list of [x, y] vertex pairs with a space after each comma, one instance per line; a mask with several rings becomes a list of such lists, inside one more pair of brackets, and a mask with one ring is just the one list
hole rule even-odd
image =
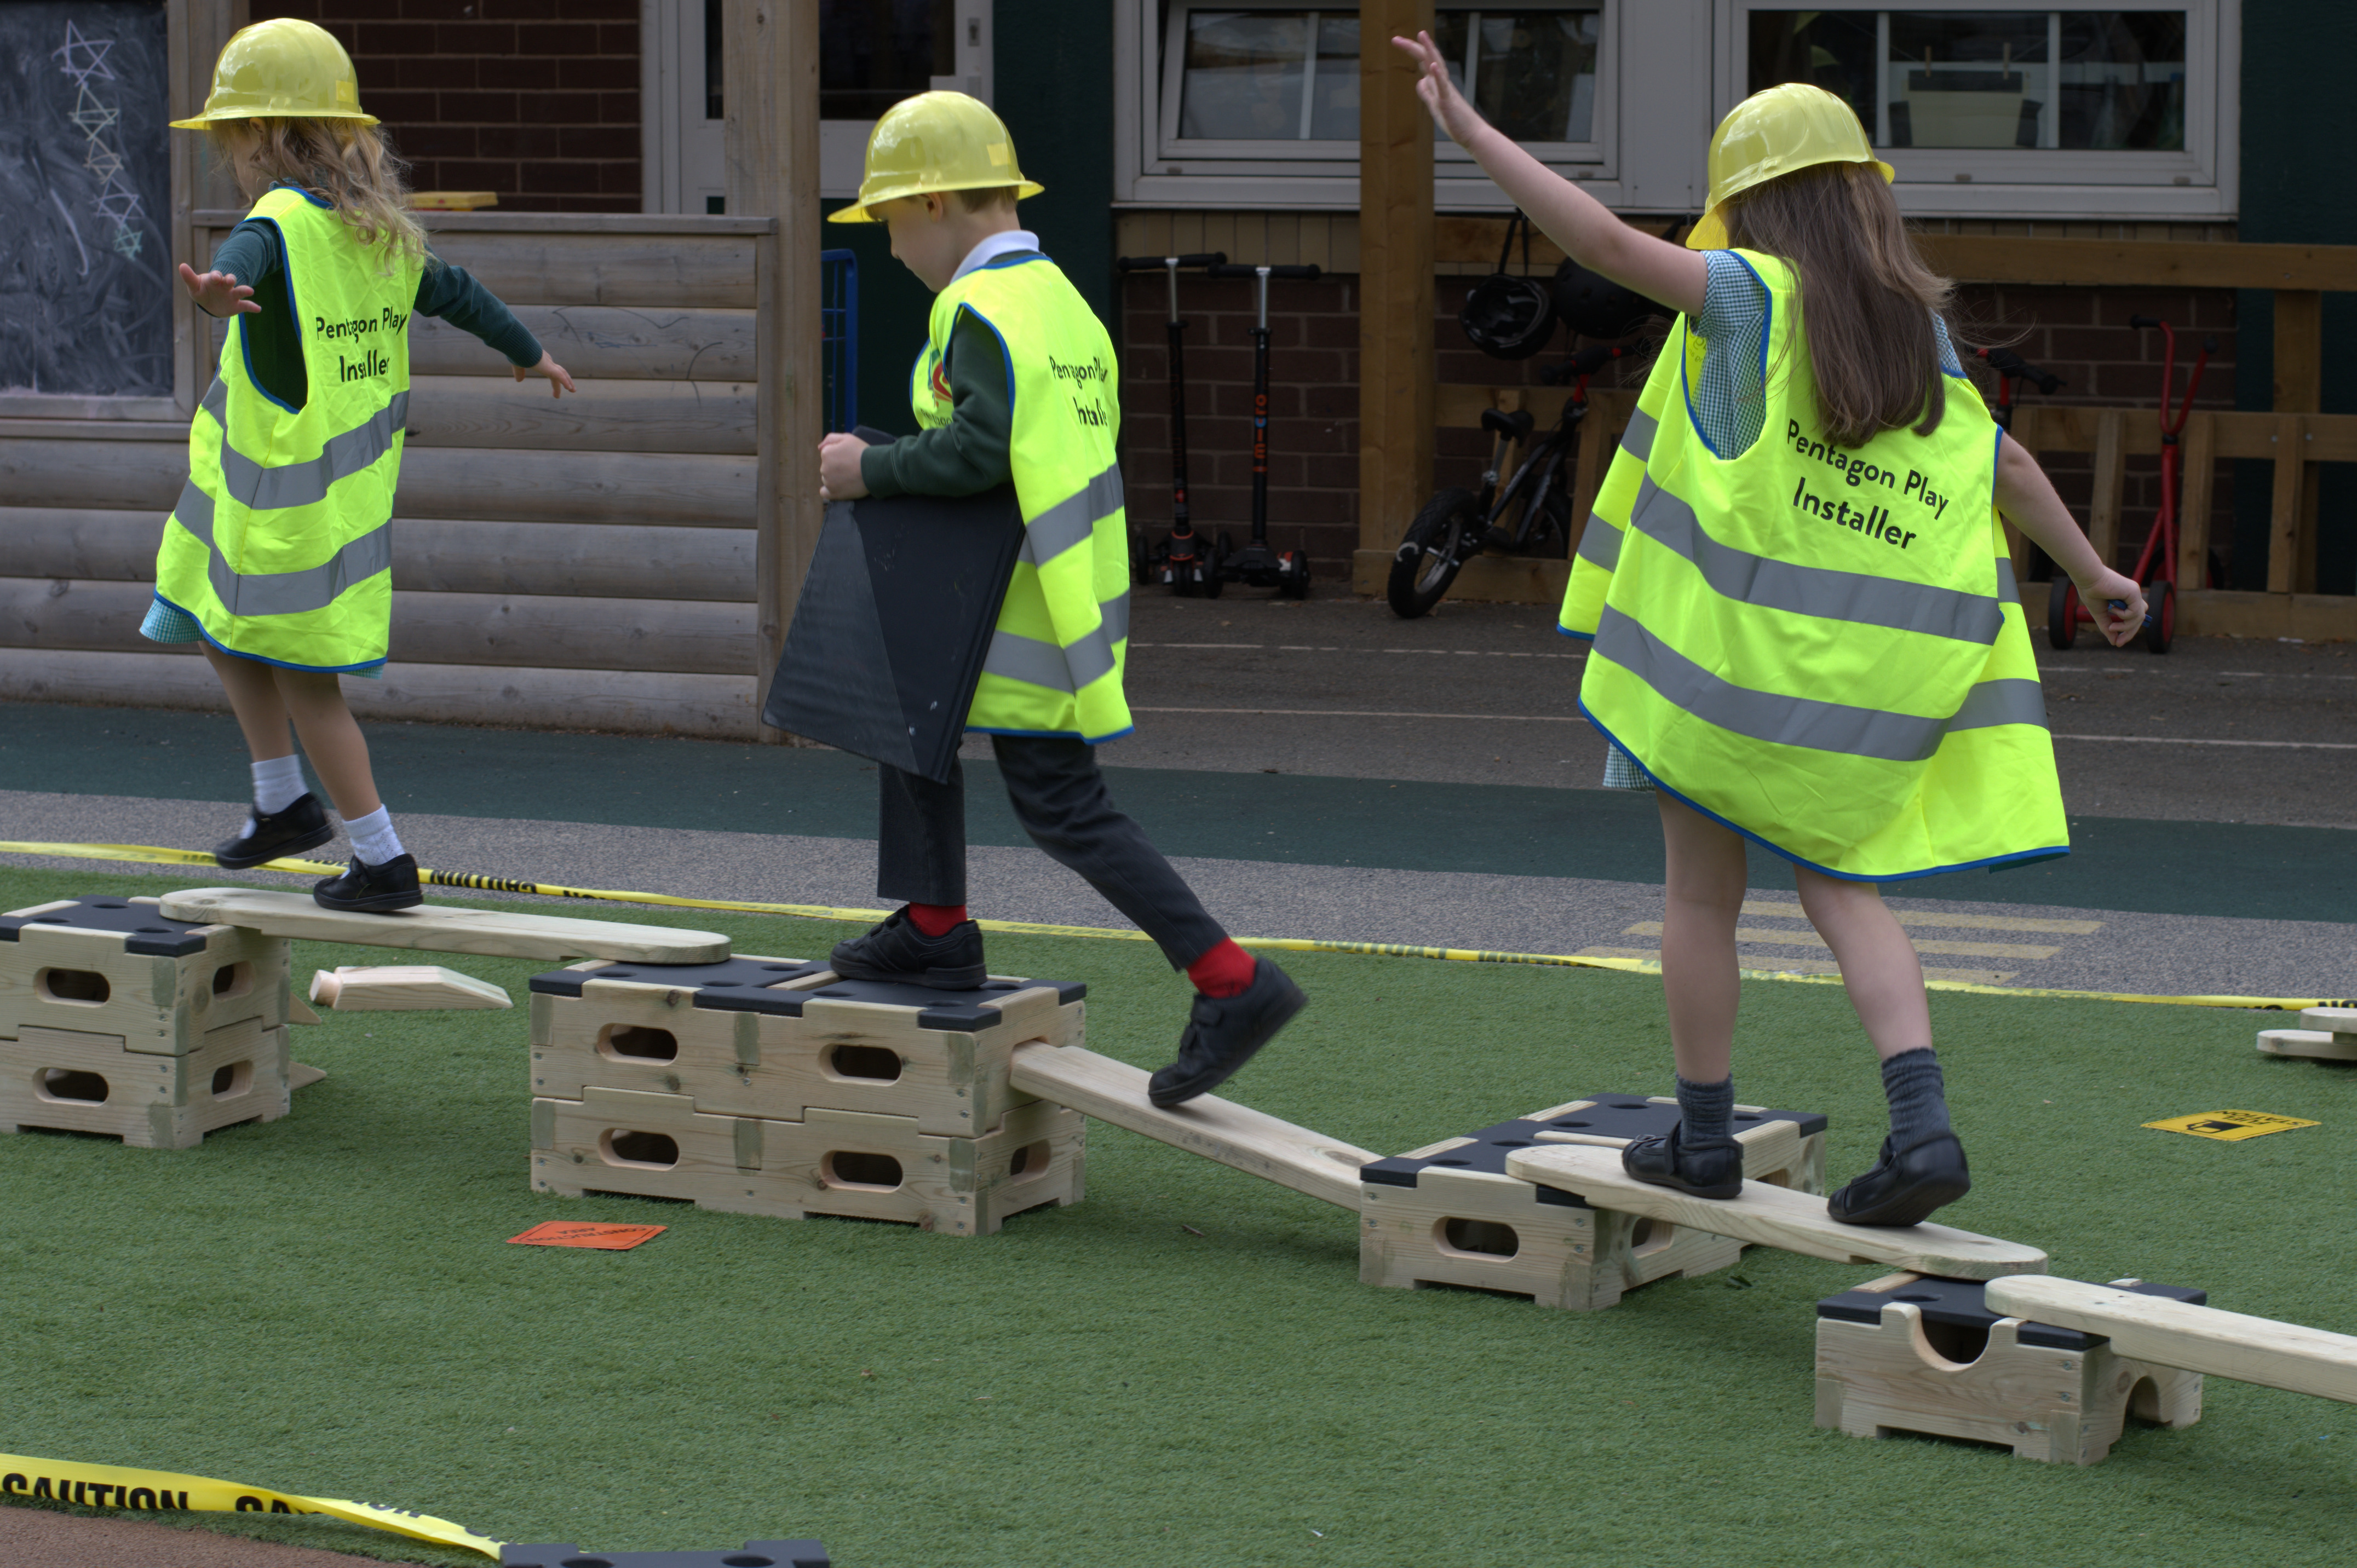
[[1433, 488], [1433, 120], [1391, 47], [1433, 0], [1367, 0], [1358, 28], [1358, 545], [1388, 554]]

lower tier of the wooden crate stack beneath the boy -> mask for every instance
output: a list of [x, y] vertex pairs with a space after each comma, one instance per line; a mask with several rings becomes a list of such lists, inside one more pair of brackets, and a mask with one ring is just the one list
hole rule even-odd
[[813, 1108], [780, 1122], [712, 1115], [686, 1094], [589, 1087], [580, 1099], [533, 1101], [533, 1188], [990, 1236], [1011, 1214], [1082, 1200], [1087, 1118], [1030, 1101], [992, 1132], [940, 1137], [905, 1115]]

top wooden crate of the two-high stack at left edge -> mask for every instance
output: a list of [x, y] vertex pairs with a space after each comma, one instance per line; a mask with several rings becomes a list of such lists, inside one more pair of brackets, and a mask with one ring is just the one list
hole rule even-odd
[[0, 1037], [111, 1035], [186, 1056], [231, 1023], [288, 1023], [288, 941], [165, 920], [156, 898], [59, 898], [0, 915]]

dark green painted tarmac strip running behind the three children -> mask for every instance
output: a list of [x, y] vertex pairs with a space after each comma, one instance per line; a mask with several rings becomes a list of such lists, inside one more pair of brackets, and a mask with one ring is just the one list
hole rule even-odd
[[[874, 764], [846, 752], [438, 724], [370, 724], [368, 743], [396, 816], [874, 837]], [[1120, 745], [1105, 762], [1115, 802], [1171, 856], [1662, 882], [1662, 835], [1643, 795], [1122, 769]], [[1025, 844], [997, 769], [969, 764], [966, 783], [969, 839]], [[226, 714], [0, 703], [0, 790], [243, 802], [245, 788], [245, 747]], [[1893, 891], [2357, 922], [2357, 832], [2107, 816], [2074, 816], [2069, 828], [2069, 858]], [[1789, 872], [1754, 846], [1751, 879], [1780, 887]]]

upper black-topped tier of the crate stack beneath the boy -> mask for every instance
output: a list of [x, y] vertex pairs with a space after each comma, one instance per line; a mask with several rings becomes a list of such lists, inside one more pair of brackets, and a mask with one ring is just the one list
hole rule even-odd
[[589, 962], [530, 981], [533, 1094], [684, 1094], [709, 1115], [905, 1118], [976, 1137], [1032, 1103], [1014, 1047], [1084, 1040], [1084, 986], [992, 976], [976, 990], [844, 981], [823, 962]]

